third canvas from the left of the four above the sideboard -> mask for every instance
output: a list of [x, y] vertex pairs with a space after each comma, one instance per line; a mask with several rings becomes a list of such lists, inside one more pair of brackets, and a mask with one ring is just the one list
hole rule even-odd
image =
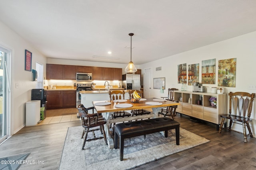
[[202, 61], [202, 84], [215, 84], [216, 59]]

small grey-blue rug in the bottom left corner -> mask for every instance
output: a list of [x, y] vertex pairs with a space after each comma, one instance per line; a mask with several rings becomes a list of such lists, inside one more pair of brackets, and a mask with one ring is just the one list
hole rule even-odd
[[30, 153], [0, 158], [0, 170], [17, 170], [24, 164], [22, 161], [25, 160], [29, 154]]

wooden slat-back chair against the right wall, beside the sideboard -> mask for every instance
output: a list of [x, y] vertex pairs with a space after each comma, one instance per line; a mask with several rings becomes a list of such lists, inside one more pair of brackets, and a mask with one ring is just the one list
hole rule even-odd
[[[229, 96], [229, 113], [220, 115], [222, 117], [219, 133], [221, 133], [222, 129], [228, 129], [230, 131], [238, 132], [232, 129], [232, 124], [240, 124], [243, 128], [244, 134], [244, 142], [247, 143], [247, 135], [246, 135], [246, 127], [249, 131], [250, 137], [253, 137], [252, 130], [250, 128], [250, 119], [252, 113], [252, 103], [255, 98], [255, 93], [247, 93], [247, 92], [230, 92]], [[229, 119], [229, 126], [223, 127], [225, 119]], [[241, 132], [238, 132], [241, 133]]]

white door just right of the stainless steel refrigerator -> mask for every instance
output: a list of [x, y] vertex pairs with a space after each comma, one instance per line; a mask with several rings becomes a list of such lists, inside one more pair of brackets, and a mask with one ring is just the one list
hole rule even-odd
[[144, 98], [151, 98], [152, 71], [151, 68], [144, 69]]

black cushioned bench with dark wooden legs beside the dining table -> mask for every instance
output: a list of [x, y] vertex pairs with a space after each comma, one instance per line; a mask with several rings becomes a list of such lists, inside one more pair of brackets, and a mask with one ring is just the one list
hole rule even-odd
[[176, 145], [180, 145], [180, 123], [168, 117], [116, 124], [114, 145], [115, 149], [117, 149], [119, 137], [120, 161], [122, 161], [124, 157], [124, 139], [160, 131], [164, 131], [164, 136], [168, 137], [168, 130], [170, 129], [175, 129]]

